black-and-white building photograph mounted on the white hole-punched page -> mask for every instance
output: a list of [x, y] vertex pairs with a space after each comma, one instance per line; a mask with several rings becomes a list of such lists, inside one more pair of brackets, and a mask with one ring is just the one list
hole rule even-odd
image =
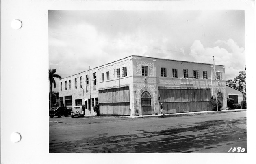
[[48, 17], [50, 153], [247, 152], [243, 10]]

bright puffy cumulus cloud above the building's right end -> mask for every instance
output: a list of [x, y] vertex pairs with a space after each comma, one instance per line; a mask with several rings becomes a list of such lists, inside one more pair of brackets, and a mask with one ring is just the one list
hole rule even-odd
[[[195, 40], [191, 46], [190, 54], [197, 62], [213, 63], [213, 56], [215, 57], [215, 64], [224, 65], [226, 72], [226, 79], [233, 79], [238, 76], [239, 71], [245, 69], [245, 51], [244, 48], [239, 47], [233, 39], [217, 40], [213, 48], [204, 47], [200, 40]], [[221, 46], [228, 46], [230, 50], [222, 48]]]

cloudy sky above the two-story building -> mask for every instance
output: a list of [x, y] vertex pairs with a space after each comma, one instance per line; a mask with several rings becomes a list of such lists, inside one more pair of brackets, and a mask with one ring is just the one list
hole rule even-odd
[[[245, 70], [243, 10], [49, 10], [49, 68], [62, 78], [141, 55]], [[58, 91], [57, 87], [54, 91]]]

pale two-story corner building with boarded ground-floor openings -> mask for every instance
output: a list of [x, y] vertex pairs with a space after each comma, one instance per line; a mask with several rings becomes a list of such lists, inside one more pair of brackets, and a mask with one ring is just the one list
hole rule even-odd
[[215, 95], [223, 108], [226, 81], [223, 65], [132, 55], [59, 80], [59, 104], [85, 105], [86, 115], [134, 116], [159, 113], [210, 111]]

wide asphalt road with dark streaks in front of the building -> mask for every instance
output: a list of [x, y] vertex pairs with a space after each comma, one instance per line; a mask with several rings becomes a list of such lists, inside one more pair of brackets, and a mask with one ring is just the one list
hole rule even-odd
[[166, 118], [49, 118], [50, 153], [246, 153], [246, 111]]

